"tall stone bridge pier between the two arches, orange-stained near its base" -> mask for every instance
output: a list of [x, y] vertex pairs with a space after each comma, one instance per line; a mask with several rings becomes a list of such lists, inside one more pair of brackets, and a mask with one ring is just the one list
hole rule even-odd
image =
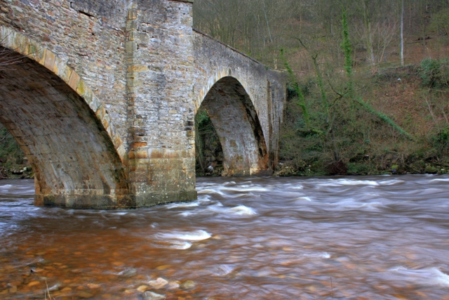
[[126, 29], [130, 188], [141, 205], [196, 199], [192, 3], [135, 1]]

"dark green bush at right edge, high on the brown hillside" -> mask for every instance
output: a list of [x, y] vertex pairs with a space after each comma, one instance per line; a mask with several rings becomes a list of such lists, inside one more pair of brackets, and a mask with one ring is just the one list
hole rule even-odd
[[421, 62], [420, 76], [422, 85], [429, 88], [443, 89], [449, 87], [449, 60], [426, 58]]

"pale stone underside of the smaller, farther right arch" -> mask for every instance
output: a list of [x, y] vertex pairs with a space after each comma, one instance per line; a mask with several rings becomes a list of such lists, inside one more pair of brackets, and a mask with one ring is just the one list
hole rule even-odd
[[241, 83], [224, 77], [201, 103], [220, 138], [224, 176], [269, 174], [267, 145], [255, 107]]

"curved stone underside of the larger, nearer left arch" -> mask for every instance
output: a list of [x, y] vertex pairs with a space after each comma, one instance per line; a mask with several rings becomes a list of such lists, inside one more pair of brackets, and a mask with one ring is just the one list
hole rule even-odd
[[29, 58], [7, 69], [0, 70], [0, 122], [35, 171], [35, 204], [132, 206], [121, 159], [83, 98]]

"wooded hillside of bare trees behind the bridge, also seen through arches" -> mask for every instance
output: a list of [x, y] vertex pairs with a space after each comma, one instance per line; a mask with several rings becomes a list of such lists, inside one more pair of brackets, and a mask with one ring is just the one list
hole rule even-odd
[[[275, 174], [449, 171], [449, 0], [195, 0], [194, 27], [288, 73]], [[220, 174], [204, 110], [196, 142]], [[26, 166], [1, 127], [0, 178]]]

